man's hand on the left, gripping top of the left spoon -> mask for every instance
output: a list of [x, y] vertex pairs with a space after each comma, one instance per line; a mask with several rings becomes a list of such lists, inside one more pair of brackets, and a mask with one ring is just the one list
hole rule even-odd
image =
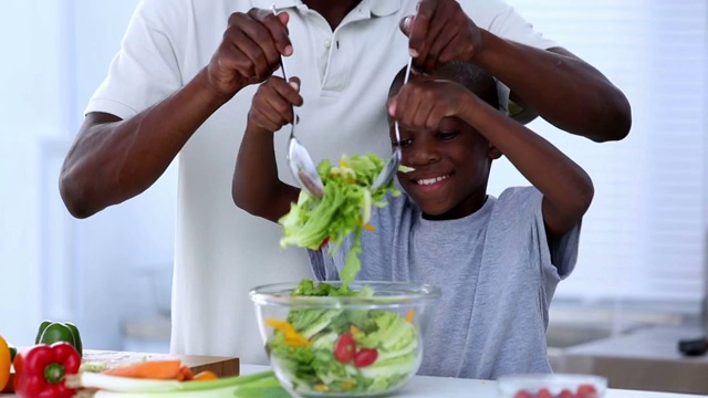
[[262, 9], [235, 12], [219, 49], [207, 66], [207, 83], [217, 95], [230, 98], [249, 84], [260, 83], [280, 66], [280, 55], [292, 54], [287, 12]]

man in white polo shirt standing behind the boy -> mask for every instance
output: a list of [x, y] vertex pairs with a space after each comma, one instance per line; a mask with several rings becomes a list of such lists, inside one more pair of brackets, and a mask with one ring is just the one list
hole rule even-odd
[[[384, 105], [408, 48], [419, 69], [478, 63], [518, 104], [571, 133], [607, 140], [629, 129], [622, 93], [500, 0], [424, 0], [417, 13], [409, 0], [274, 4], [284, 12], [272, 15], [270, 0], [143, 0], [64, 163], [62, 198], [84, 218], [147, 189], [179, 153], [175, 353], [263, 362], [248, 290], [309, 276], [305, 253], [281, 251], [278, 227], [235, 208], [230, 195], [254, 84], [279, 54], [301, 80], [298, 130], [315, 161], [389, 153]], [[410, 14], [408, 41], [399, 22]], [[284, 160], [287, 135], [277, 136]]]

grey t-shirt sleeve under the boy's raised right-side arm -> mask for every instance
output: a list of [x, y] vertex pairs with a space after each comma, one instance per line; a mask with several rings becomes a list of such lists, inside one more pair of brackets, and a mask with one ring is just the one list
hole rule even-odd
[[[542, 201], [543, 195], [537, 188], [516, 187], [506, 189], [501, 193], [498, 206], [503, 206], [506, 212], [517, 212], [513, 219], [519, 222], [518, 227], [522, 235], [527, 233], [524, 230], [531, 229], [530, 244], [537, 245], [538, 251], [533, 249], [529, 251], [539, 253], [541, 274], [558, 282], [568, 277], [575, 268], [582, 221], [560, 239], [549, 241], [543, 222]], [[524, 228], [523, 224], [528, 227]]]

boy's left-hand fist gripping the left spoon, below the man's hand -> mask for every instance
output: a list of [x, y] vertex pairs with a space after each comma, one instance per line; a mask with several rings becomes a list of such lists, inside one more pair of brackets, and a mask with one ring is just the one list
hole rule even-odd
[[302, 105], [300, 78], [291, 77], [289, 83], [282, 77], [271, 76], [261, 84], [253, 95], [248, 123], [268, 132], [278, 132], [293, 123], [293, 106]]

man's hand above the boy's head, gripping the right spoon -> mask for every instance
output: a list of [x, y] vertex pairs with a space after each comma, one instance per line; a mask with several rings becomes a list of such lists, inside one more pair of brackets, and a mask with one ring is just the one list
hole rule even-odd
[[455, 0], [421, 0], [417, 13], [400, 21], [400, 30], [423, 71], [450, 61], [470, 62], [482, 48], [482, 30]]

